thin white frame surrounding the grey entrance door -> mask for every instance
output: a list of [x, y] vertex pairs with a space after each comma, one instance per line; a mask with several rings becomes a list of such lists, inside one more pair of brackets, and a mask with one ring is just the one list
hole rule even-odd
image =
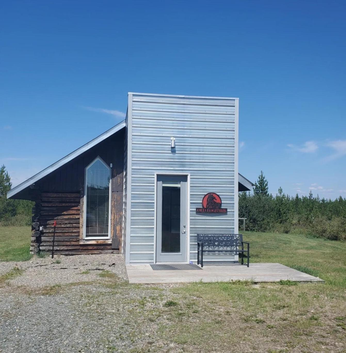
[[[177, 172], [155, 172], [154, 173], [154, 264], [156, 264], [156, 213], [157, 213], [157, 176], [158, 175], [180, 175], [183, 177], [187, 177], [187, 225], [186, 225], [186, 262], [190, 262], [190, 173], [177, 173]], [[179, 263], [179, 262], [176, 262]], [[181, 262], [180, 262], [181, 263]], [[164, 264], [164, 262], [160, 262], [160, 264]]]

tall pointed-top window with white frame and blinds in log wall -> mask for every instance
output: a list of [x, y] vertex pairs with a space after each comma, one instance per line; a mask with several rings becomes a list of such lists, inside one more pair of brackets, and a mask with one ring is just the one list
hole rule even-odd
[[110, 168], [97, 157], [86, 167], [84, 238], [110, 238]]

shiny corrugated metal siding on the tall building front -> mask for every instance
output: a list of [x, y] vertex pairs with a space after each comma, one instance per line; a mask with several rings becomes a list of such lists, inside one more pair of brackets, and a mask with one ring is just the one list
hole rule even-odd
[[[235, 189], [238, 173], [235, 170], [235, 99], [133, 94], [131, 104], [129, 261], [154, 261], [154, 173], [190, 174], [190, 259], [196, 260], [197, 233], [234, 233], [238, 190]], [[172, 136], [176, 139], [176, 152], [170, 149]], [[126, 175], [125, 172], [125, 180]], [[207, 192], [221, 196], [227, 215], [196, 214], [195, 209], [201, 207]], [[124, 219], [125, 205], [124, 193]], [[205, 259], [215, 261], [220, 256], [234, 258], [214, 254]]]

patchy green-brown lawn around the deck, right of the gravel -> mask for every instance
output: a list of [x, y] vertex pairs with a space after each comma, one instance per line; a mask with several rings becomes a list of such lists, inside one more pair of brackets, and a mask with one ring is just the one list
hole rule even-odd
[[[344, 342], [346, 329], [346, 243], [295, 234], [244, 233], [254, 262], [278, 262], [318, 276], [321, 283], [191, 283], [171, 289], [179, 309], [170, 308], [162, 335], [187, 351], [235, 350], [318, 352]], [[194, 299], [195, 305], [190, 307]], [[177, 316], [177, 310], [184, 316]], [[203, 316], [200, 313], [203, 313]], [[229, 329], [231, 328], [231, 329]], [[210, 340], [210, 337], [213, 337]], [[239, 337], [243, 337], [242, 346]], [[282, 347], [280, 349], [276, 347]], [[198, 348], [198, 349], [197, 349]]]

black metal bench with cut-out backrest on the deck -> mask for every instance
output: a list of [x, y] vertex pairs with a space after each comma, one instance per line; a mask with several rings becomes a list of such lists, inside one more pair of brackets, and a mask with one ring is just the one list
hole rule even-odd
[[[244, 250], [244, 244], [247, 245], [247, 250]], [[229, 248], [233, 248], [233, 250]], [[201, 262], [201, 267], [203, 267], [204, 252], [238, 253], [241, 256], [242, 265], [244, 264], [244, 253], [246, 252], [248, 262], [245, 265], [249, 267], [250, 243], [243, 241], [243, 234], [197, 234], [197, 264], [199, 265]], [[199, 261], [200, 253], [201, 261]]]

